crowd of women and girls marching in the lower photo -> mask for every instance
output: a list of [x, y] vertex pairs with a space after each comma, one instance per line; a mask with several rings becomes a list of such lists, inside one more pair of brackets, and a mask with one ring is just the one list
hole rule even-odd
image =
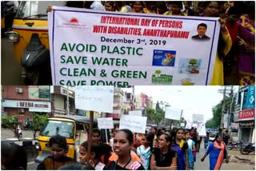
[[[225, 135], [225, 134], [224, 134]], [[96, 170], [188, 170], [195, 162], [202, 162], [210, 154], [210, 169], [221, 169], [228, 157], [225, 136], [217, 134], [206, 146], [201, 161], [196, 161], [202, 138], [197, 129], [174, 128], [171, 130], [152, 128], [150, 133], [132, 133], [129, 129], [114, 128], [110, 143], [102, 141], [101, 131], [93, 129], [90, 153], [89, 141], [79, 147], [78, 160], [67, 157], [66, 137], [50, 137], [47, 147], [51, 155], [37, 169], [96, 169]], [[27, 169], [26, 151], [12, 142], [2, 142], [2, 169]], [[18, 160], [17, 160], [18, 159]]]

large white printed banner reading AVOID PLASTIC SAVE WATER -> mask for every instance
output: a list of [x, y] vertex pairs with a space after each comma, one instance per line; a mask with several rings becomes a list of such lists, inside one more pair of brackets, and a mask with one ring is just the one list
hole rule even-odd
[[210, 84], [218, 18], [54, 6], [48, 19], [53, 85]]

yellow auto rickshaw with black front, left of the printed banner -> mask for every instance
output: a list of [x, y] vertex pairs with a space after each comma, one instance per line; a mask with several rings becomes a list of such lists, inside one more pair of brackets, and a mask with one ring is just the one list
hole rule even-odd
[[[22, 65], [21, 75], [25, 78], [26, 85], [51, 85], [46, 9], [48, 6], [65, 5], [65, 1], [22, 1], [19, 3], [12, 26], [13, 30], [6, 32], [6, 36], [8, 41], [14, 43], [14, 59]], [[43, 78], [44, 76], [47, 77]], [[47, 82], [42, 82], [46, 79]]]

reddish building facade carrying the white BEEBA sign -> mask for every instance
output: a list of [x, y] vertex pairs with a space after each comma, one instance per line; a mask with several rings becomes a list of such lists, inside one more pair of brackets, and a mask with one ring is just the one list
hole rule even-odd
[[2, 85], [2, 115], [26, 124], [32, 113], [52, 113], [49, 85]]

